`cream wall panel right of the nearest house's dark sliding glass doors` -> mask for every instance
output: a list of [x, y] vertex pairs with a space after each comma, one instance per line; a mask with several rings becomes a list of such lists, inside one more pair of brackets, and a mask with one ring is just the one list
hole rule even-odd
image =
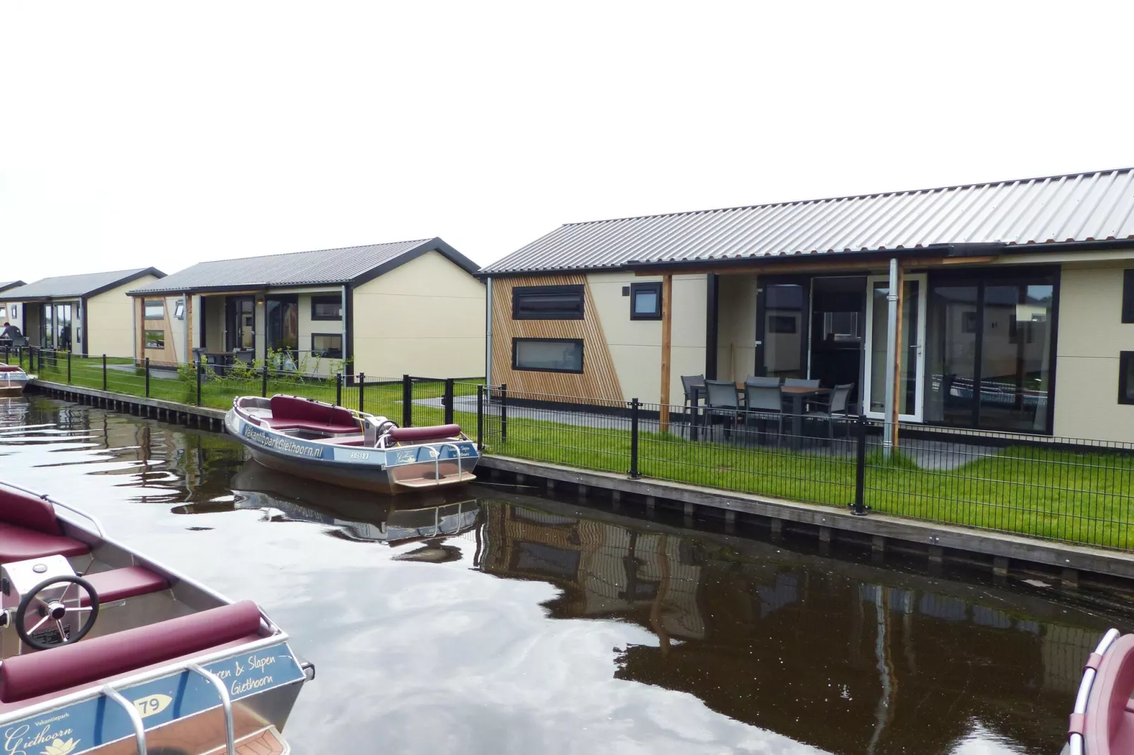
[[1123, 324], [1123, 269], [1064, 265], [1059, 282], [1055, 434], [1134, 441], [1134, 405], [1118, 404], [1118, 353], [1134, 351]]

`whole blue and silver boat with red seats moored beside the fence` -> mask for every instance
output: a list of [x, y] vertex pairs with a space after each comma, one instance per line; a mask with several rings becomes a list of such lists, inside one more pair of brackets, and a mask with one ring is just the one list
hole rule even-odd
[[265, 467], [381, 493], [464, 485], [480, 460], [459, 425], [399, 427], [296, 396], [236, 398], [225, 427]]

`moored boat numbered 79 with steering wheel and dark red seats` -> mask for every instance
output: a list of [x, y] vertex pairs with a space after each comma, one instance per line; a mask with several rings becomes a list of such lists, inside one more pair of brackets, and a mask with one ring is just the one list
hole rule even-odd
[[0, 584], [3, 752], [290, 752], [280, 732], [314, 668], [252, 601], [5, 483]]

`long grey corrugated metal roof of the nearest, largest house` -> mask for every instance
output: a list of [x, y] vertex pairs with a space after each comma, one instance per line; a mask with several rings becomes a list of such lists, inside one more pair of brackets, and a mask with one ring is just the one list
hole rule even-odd
[[1134, 238], [1134, 169], [568, 223], [482, 272]]

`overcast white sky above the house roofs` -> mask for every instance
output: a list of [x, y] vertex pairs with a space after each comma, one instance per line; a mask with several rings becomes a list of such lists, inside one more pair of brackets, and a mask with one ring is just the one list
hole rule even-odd
[[5, 2], [0, 279], [1129, 167], [1132, 6]]

